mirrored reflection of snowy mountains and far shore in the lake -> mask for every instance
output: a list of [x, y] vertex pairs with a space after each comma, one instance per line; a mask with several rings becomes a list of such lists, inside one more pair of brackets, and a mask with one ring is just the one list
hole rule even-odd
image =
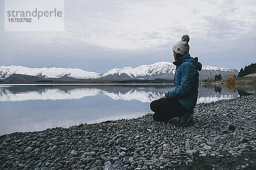
[[[1, 85], [0, 101], [81, 99], [105, 94], [114, 100], [151, 102], [173, 90], [174, 85]], [[256, 85], [199, 85], [198, 102], [252, 94]]]

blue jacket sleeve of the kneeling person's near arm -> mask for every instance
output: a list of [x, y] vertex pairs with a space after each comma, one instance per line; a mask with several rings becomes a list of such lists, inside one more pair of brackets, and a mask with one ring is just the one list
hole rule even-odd
[[189, 93], [197, 75], [196, 67], [190, 64], [183, 65], [180, 69], [180, 86], [165, 94], [166, 98], [177, 99]]

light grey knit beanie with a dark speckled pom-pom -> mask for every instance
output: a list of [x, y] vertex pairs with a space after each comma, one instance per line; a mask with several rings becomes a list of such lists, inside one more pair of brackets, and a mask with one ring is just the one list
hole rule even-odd
[[183, 35], [181, 37], [181, 41], [175, 43], [173, 45], [172, 50], [175, 51], [178, 54], [185, 55], [189, 53], [189, 36], [188, 35]]

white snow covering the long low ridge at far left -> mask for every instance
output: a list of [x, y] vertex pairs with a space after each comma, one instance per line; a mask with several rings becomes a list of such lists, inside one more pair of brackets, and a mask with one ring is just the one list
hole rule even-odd
[[5, 79], [12, 74], [25, 74], [43, 78], [96, 79], [98, 73], [84, 71], [79, 68], [28, 68], [23, 66], [0, 66], [0, 78]]

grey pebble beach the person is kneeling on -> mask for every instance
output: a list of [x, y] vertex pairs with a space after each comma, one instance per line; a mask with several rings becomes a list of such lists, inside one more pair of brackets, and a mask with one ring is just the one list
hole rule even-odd
[[[0, 170], [177, 170], [256, 153], [256, 95], [199, 103], [187, 127], [152, 116], [5, 134]], [[250, 156], [241, 162], [235, 169], [256, 166]]]

